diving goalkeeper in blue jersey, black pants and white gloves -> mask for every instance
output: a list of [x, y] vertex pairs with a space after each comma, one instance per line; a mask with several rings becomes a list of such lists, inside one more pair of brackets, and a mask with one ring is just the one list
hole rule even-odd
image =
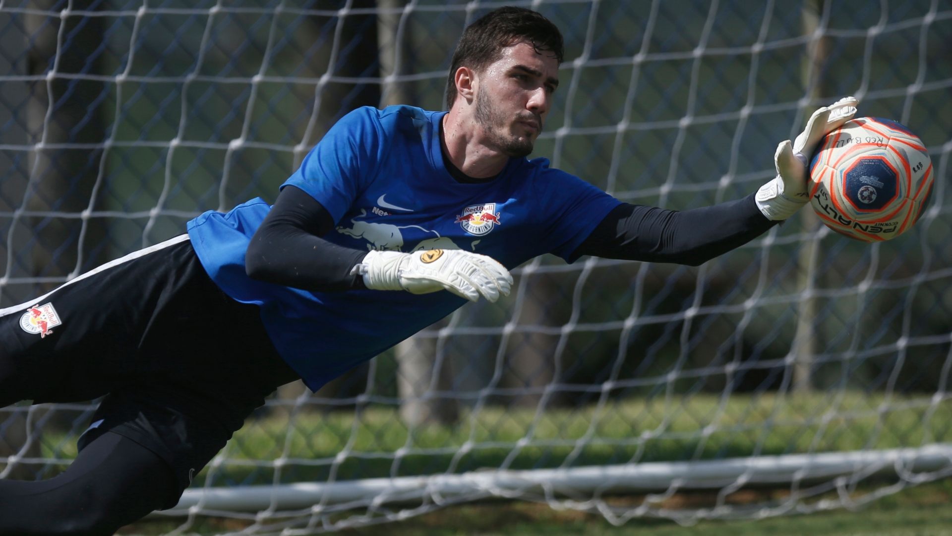
[[858, 104], [814, 113], [758, 192], [663, 210], [526, 158], [562, 58], [542, 15], [493, 10], [454, 52], [448, 113], [348, 113], [273, 206], [208, 212], [0, 310], [0, 406], [105, 396], [68, 470], [0, 481], [0, 534], [110, 534], [175, 505], [277, 386], [316, 390], [467, 300], [506, 296], [530, 258], [698, 265], [744, 244], [806, 203], [804, 155]]

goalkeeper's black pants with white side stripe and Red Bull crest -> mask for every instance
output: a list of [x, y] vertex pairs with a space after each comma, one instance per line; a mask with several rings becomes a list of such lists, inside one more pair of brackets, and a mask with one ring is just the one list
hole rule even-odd
[[105, 397], [63, 475], [0, 481], [0, 535], [111, 534], [174, 506], [297, 379], [259, 313], [208, 278], [186, 236], [0, 309], [0, 407]]

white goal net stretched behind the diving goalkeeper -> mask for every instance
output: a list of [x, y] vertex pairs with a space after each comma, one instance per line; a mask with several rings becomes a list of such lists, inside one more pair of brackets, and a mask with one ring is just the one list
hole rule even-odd
[[[700, 267], [536, 258], [508, 299], [281, 388], [155, 515], [307, 534], [507, 499], [690, 524], [947, 476], [949, 0], [0, 0], [0, 307], [273, 201], [358, 106], [442, 109], [461, 31], [504, 4], [565, 34], [535, 155], [613, 196], [746, 196], [853, 94], [922, 138], [931, 204], [872, 245], [807, 208]], [[0, 408], [0, 478], [62, 471], [94, 407]]]

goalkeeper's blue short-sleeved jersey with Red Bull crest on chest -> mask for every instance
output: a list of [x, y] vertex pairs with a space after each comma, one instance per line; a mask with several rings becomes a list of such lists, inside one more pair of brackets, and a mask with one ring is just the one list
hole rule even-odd
[[[408, 106], [348, 113], [285, 185], [333, 216], [328, 241], [361, 250], [458, 248], [509, 269], [545, 253], [573, 261], [620, 204], [545, 158], [510, 158], [486, 183], [456, 181], [441, 150], [444, 114]], [[312, 390], [466, 303], [449, 292], [308, 292], [248, 278], [248, 242], [269, 209], [256, 198], [228, 214], [209, 211], [188, 222], [188, 235], [228, 296], [261, 306], [275, 348]]]

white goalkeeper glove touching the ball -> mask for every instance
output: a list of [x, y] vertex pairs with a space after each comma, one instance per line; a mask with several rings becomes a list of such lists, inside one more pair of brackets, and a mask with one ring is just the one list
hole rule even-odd
[[817, 150], [823, 136], [843, 126], [856, 115], [860, 101], [846, 96], [830, 106], [824, 106], [810, 115], [806, 128], [790, 143], [784, 140], [777, 146], [774, 165], [777, 176], [761, 186], [754, 199], [767, 219], [786, 219], [793, 216], [810, 200], [809, 178], [806, 175], [807, 160]]

